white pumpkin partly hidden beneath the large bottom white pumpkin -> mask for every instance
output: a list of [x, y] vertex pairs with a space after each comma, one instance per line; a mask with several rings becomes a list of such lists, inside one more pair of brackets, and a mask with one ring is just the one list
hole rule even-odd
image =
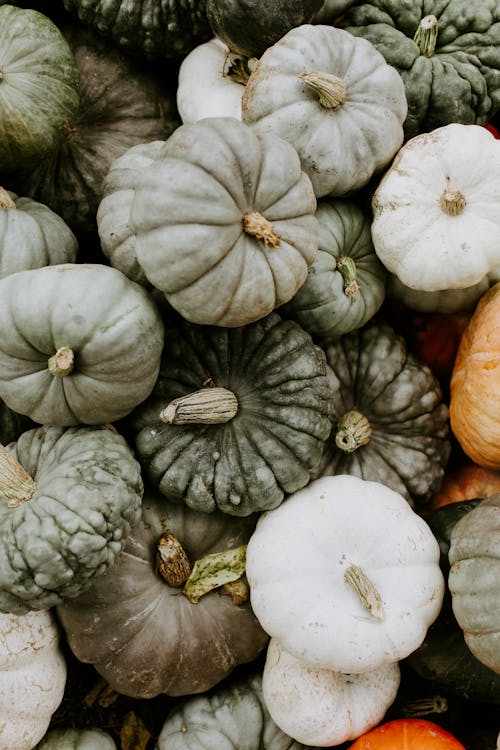
[[382, 721], [400, 678], [397, 663], [359, 674], [313, 669], [272, 638], [262, 692], [271, 718], [285, 734], [306, 745], [330, 747]]

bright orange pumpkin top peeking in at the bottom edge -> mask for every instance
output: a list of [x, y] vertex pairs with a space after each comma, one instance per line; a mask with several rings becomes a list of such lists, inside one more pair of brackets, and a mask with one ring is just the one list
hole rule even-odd
[[465, 750], [465, 747], [427, 719], [394, 719], [358, 737], [350, 750]]

